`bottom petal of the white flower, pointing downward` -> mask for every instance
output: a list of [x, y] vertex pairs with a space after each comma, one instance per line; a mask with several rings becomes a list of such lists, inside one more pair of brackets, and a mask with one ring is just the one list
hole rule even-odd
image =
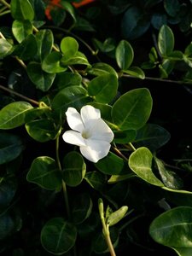
[[110, 143], [94, 140], [86, 140], [86, 144], [87, 146], [80, 147], [80, 152], [86, 159], [94, 163], [105, 157], [111, 147]]

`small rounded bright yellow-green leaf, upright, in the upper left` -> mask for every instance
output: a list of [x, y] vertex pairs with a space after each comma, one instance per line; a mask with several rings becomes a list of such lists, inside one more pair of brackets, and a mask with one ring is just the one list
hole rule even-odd
[[75, 38], [66, 37], [62, 38], [60, 48], [63, 53], [63, 61], [68, 61], [77, 54], [79, 44]]

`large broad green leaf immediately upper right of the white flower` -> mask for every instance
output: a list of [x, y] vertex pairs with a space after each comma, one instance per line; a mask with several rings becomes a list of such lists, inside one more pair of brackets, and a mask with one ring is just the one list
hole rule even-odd
[[141, 128], [150, 116], [152, 103], [152, 97], [147, 88], [126, 92], [113, 104], [113, 123], [121, 131]]

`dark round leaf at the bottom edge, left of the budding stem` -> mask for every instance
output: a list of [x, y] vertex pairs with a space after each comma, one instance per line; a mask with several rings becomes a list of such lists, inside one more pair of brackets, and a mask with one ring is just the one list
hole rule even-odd
[[55, 255], [67, 253], [75, 244], [76, 227], [63, 218], [51, 218], [41, 231], [41, 243], [46, 251]]

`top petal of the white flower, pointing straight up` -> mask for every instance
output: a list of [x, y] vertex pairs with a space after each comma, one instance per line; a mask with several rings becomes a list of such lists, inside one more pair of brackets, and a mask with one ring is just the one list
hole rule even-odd
[[90, 105], [86, 105], [83, 108], [81, 108], [80, 113], [85, 126], [89, 124], [92, 119], [101, 118], [100, 110]]

